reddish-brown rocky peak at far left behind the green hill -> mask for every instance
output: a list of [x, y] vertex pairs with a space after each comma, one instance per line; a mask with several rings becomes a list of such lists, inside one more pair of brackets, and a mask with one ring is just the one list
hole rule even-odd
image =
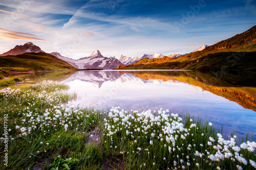
[[8, 56], [8, 55], [19, 55], [24, 53], [38, 53], [44, 52], [41, 50], [39, 46], [34, 45], [32, 42], [27, 42], [24, 45], [16, 45], [14, 48], [9, 50], [6, 53], [1, 54], [0, 56]]

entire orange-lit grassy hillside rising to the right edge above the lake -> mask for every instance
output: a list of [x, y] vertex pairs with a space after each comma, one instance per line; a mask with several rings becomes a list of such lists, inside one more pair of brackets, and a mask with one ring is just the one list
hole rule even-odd
[[256, 70], [256, 26], [202, 51], [178, 58], [144, 58], [116, 69], [243, 69]]

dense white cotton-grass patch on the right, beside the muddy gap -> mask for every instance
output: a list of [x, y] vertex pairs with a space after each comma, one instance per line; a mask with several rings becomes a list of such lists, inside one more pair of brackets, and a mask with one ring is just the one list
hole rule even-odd
[[[158, 113], [153, 114], [151, 110], [141, 113], [132, 110], [128, 113], [112, 107], [104, 119], [105, 147], [120, 150], [127, 157], [139, 157], [141, 166], [134, 168], [165, 166], [173, 169], [212, 169], [220, 168], [227, 159], [238, 169], [247, 165], [247, 161], [250, 166], [255, 166], [252, 159], [243, 157], [245, 154], [247, 159], [250, 158], [248, 155], [255, 158], [255, 142], [247, 141], [238, 147], [236, 136], [225, 140], [218, 133], [215, 139], [215, 136], [209, 136], [214, 134], [201, 133], [200, 124], [196, 124], [193, 119], [185, 123], [182, 117], [169, 114], [168, 110], [154, 112]], [[211, 126], [212, 123], [209, 123], [209, 129]], [[125, 143], [129, 143], [129, 147]]]

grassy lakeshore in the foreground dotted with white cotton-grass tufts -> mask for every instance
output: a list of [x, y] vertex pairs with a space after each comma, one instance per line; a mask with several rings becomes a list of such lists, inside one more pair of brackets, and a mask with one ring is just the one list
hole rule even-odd
[[[67, 88], [44, 81], [1, 90], [0, 130], [8, 134], [8, 167], [1, 169], [254, 169], [256, 143], [246, 144], [252, 152], [244, 147], [236, 152], [244, 141], [234, 134], [222, 137], [207, 120], [162, 109], [85, 108], [69, 102], [76, 95]], [[5, 147], [1, 142], [0, 155]], [[235, 161], [222, 158], [225, 152]]]

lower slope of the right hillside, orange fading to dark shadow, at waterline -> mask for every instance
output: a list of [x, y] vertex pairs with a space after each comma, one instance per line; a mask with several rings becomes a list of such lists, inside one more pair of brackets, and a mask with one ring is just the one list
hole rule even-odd
[[126, 67], [116, 69], [201, 69], [201, 70], [247, 70], [256, 71], [256, 52], [222, 52], [196, 57], [191, 60], [186, 56], [180, 59], [144, 58]]

